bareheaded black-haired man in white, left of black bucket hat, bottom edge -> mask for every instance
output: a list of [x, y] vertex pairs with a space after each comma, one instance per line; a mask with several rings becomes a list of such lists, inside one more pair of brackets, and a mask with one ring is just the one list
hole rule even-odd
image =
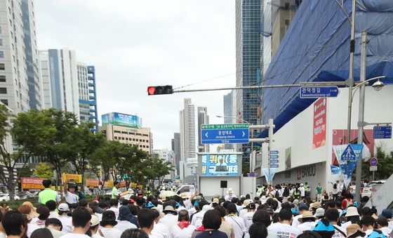
[[72, 213], [72, 233], [63, 235], [61, 238], [90, 238], [86, 232], [90, 227], [91, 214], [88, 209], [79, 207]]

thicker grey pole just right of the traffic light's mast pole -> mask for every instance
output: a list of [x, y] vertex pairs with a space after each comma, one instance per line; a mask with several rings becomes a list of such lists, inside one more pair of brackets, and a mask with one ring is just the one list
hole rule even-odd
[[[361, 32], [361, 55], [360, 55], [360, 81], [366, 80], [366, 55], [367, 55], [367, 32]], [[364, 95], [366, 86], [362, 84], [359, 88], [359, 122], [357, 130], [357, 143], [363, 145], [363, 131], [364, 131]], [[356, 168], [356, 192], [355, 201], [360, 202], [360, 188], [361, 188], [361, 165], [363, 162], [362, 152], [359, 155]]]

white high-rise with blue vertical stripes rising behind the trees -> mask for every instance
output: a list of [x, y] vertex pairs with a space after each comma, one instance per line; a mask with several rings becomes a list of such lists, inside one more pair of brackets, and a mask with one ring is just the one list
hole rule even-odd
[[44, 109], [74, 112], [80, 121], [93, 122], [97, 131], [95, 67], [77, 62], [75, 51], [66, 48], [40, 51], [39, 58]]

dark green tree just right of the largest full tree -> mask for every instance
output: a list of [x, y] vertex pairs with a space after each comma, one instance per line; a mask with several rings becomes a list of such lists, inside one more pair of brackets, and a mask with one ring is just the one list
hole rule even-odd
[[[75, 154], [68, 157], [67, 161], [74, 166], [76, 173], [81, 175], [84, 175], [88, 168], [89, 157], [105, 142], [102, 133], [95, 134], [91, 131], [93, 126], [92, 123], [81, 123], [71, 131], [73, 139], [69, 142], [69, 146], [73, 148]], [[82, 176], [82, 183], [84, 183], [84, 176]]]

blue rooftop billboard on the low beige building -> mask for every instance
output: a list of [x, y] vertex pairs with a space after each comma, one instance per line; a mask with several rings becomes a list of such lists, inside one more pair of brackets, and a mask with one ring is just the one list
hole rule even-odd
[[101, 116], [102, 126], [107, 124], [114, 124], [117, 126], [128, 126], [133, 128], [142, 128], [142, 118], [130, 115], [123, 114], [119, 112], [111, 112], [108, 114], [103, 114]]

